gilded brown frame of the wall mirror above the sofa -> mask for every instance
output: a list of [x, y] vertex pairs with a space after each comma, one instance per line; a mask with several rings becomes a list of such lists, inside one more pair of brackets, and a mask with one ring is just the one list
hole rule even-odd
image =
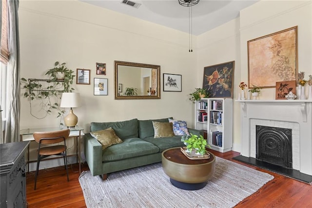
[[[155, 90], [155, 95], [124, 95], [124, 90], [127, 87], [124, 83], [118, 83], [118, 66], [130, 66], [130, 67], [138, 67], [138, 68], [150, 68], [156, 69], [155, 76], [152, 79], [157, 79], [156, 86], [153, 86], [152, 90]], [[129, 69], [131, 70], [131, 68]], [[119, 70], [120, 71], [120, 70]], [[122, 92], [120, 92], [120, 86], [123, 86]], [[135, 62], [122, 62], [115, 61], [115, 100], [131, 100], [131, 99], [160, 99], [160, 65], [146, 64], [146, 63], [135, 63]], [[154, 93], [154, 92], [153, 92]]]

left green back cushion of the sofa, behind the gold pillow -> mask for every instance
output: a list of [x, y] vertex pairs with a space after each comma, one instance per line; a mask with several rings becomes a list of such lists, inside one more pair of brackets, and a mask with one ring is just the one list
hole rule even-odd
[[138, 137], [137, 126], [138, 126], [137, 119], [120, 122], [103, 122], [103, 123], [91, 122], [90, 130], [98, 131], [112, 127], [116, 135], [120, 139], [124, 140], [127, 138]]

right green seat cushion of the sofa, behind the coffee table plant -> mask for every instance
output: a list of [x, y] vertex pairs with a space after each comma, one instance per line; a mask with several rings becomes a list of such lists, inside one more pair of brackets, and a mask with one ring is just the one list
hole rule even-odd
[[155, 146], [158, 146], [159, 151], [161, 152], [169, 148], [185, 146], [184, 143], [181, 142], [181, 136], [162, 137], [162, 138], [147, 137], [144, 140], [154, 144]]

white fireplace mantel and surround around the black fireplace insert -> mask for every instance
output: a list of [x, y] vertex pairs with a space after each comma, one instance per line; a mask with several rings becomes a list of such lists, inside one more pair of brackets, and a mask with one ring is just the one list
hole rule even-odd
[[255, 158], [254, 125], [292, 128], [294, 169], [312, 175], [312, 100], [236, 100], [241, 104], [241, 155]]

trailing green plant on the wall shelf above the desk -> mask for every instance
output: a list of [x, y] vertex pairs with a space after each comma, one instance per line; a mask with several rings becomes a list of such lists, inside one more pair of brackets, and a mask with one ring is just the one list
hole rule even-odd
[[[62, 72], [64, 74], [64, 78], [62, 80], [59, 80], [57, 72]], [[26, 80], [25, 78], [21, 78], [21, 88], [25, 89], [23, 96], [29, 99], [30, 114], [33, 117], [43, 119], [49, 115], [53, 109], [59, 111], [57, 118], [61, 117], [65, 113], [64, 110], [59, 108], [58, 103], [63, 92], [72, 92], [75, 90], [71, 87], [75, 77], [73, 73], [74, 71], [68, 69], [65, 66], [65, 63], [59, 64], [59, 62], [55, 62], [54, 68], [49, 69], [45, 73], [45, 75], [49, 76], [49, 79]], [[40, 107], [39, 111], [44, 112], [43, 116], [39, 117], [33, 113], [32, 102], [38, 102]]]

